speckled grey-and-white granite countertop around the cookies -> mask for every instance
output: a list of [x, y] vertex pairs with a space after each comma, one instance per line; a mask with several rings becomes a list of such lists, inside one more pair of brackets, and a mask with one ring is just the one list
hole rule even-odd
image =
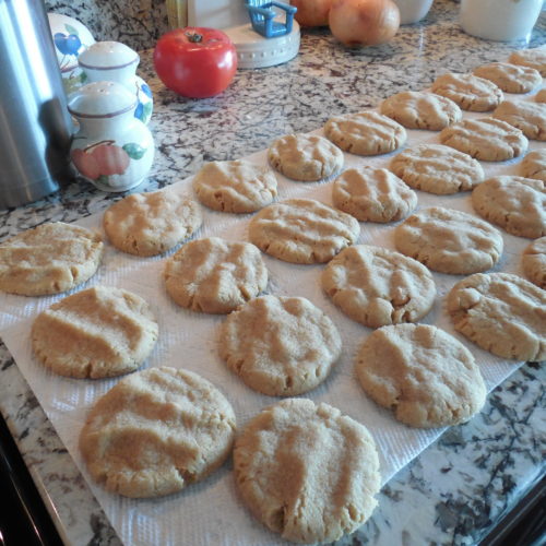
[[[214, 159], [265, 149], [275, 136], [320, 127], [332, 114], [376, 106], [403, 90], [420, 90], [446, 71], [467, 72], [546, 43], [546, 17], [531, 41], [499, 44], [462, 33], [458, 4], [437, 0], [428, 16], [404, 26], [388, 45], [347, 50], [325, 29], [305, 31], [300, 54], [274, 68], [239, 71], [221, 96], [187, 100], [155, 76], [151, 51], [140, 75], [154, 91], [150, 123], [156, 142], [152, 174], [138, 191], [168, 186]], [[122, 38], [118, 38], [121, 39]], [[2, 212], [0, 240], [46, 221], [72, 222], [122, 195], [84, 181], [39, 202]], [[344, 544], [474, 544], [544, 473], [545, 371], [527, 364], [488, 396], [470, 423], [452, 427], [403, 468], [379, 506]], [[68, 544], [119, 539], [3, 344], [0, 410]]]

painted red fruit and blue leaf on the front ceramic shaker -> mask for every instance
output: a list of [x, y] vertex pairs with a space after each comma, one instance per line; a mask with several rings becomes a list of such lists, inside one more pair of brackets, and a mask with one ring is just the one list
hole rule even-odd
[[103, 140], [72, 150], [71, 157], [82, 176], [111, 186], [109, 177], [123, 175], [131, 159], [141, 159], [145, 153], [146, 149], [134, 142], [118, 146], [112, 140]]

